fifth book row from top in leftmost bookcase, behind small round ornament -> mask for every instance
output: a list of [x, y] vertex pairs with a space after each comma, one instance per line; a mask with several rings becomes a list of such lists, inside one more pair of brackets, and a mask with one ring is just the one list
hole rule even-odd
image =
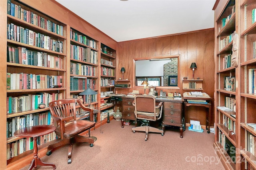
[[62, 93], [39, 93], [27, 94], [22, 96], [7, 96], [7, 115], [22, 111], [38, 109], [38, 104], [44, 103], [49, 107], [49, 103], [54, 100], [62, 99]]

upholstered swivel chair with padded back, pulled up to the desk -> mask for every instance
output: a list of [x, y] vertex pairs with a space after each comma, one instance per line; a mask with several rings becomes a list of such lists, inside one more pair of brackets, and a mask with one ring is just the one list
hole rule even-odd
[[162, 117], [163, 102], [156, 102], [154, 96], [138, 95], [134, 98], [133, 106], [135, 106], [134, 113], [136, 121], [137, 119], [147, 121], [145, 126], [133, 127], [133, 133], [135, 133], [135, 131], [146, 132], [145, 141], [148, 140], [149, 132], [161, 133], [162, 136], [164, 135], [164, 131], [162, 129], [150, 127], [149, 125], [149, 121], [157, 121]]

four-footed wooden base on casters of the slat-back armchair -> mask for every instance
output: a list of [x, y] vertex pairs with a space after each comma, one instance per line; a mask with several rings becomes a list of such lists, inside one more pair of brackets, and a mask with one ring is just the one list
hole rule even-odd
[[73, 148], [73, 143], [78, 143], [78, 142], [83, 142], [83, 143], [90, 143], [90, 147], [93, 147], [94, 141], [96, 141], [96, 137], [84, 137], [84, 136], [75, 136], [74, 138], [70, 139], [62, 139], [52, 145], [48, 146], [48, 151], [46, 152], [46, 155], [52, 154], [52, 151], [55, 149], [58, 149], [64, 145], [68, 145], [68, 164], [71, 163], [71, 154], [72, 154], [72, 148]]

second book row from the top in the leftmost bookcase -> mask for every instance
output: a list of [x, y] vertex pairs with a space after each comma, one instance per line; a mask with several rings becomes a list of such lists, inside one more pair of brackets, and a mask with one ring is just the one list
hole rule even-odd
[[63, 41], [52, 39], [47, 35], [14, 25], [14, 23], [7, 24], [7, 39], [63, 53]]

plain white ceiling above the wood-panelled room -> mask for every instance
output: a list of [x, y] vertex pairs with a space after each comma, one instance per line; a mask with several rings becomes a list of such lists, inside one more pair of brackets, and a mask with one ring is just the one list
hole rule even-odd
[[214, 27], [215, 0], [56, 0], [117, 42]]

